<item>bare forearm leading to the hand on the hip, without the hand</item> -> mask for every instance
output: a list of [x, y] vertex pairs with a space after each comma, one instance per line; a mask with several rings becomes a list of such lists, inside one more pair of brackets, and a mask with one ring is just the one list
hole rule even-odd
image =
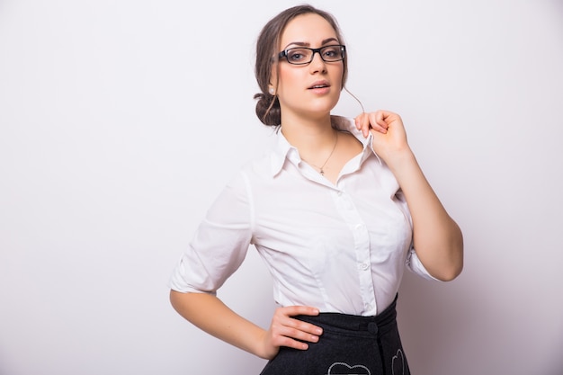
[[260, 343], [264, 342], [264, 329], [240, 317], [217, 297], [205, 293], [170, 291], [174, 309], [194, 326], [220, 340], [260, 357]]

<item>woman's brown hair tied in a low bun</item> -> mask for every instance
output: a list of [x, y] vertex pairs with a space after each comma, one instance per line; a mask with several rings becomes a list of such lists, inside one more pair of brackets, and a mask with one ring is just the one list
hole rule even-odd
[[[316, 13], [323, 17], [333, 29], [335, 29], [336, 37], [340, 43], [344, 44], [340, 28], [338, 23], [332, 14], [321, 11], [311, 5], [303, 4], [298, 6], [293, 6], [285, 11], [279, 13], [272, 20], [264, 25], [264, 28], [258, 35], [258, 40], [256, 41], [256, 62], [255, 62], [255, 77], [262, 90], [262, 93], [255, 94], [255, 99], [258, 99], [256, 103], [256, 115], [258, 119], [262, 121], [265, 125], [278, 126], [281, 124], [281, 108], [278, 98], [268, 92], [268, 85], [270, 85], [270, 78], [272, 76], [272, 69], [274, 63], [277, 59], [273, 57], [279, 52], [279, 44], [281, 40], [281, 33], [287, 26], [287, 24], [301, 14]], [[344, 72], [342, 75], [342, 87], [346, 82], [346, 77], [348, 76], [348, 64], [346, 63], [346, 58], [343, 60]], [[277, 64], [275, 64], [277, 68]]]

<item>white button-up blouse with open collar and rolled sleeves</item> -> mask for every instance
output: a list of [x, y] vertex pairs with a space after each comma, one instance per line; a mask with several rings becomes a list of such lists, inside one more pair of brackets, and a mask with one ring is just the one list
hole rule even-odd
[[395, 176], [352, 120], [362, 153], [333, 184], [281, 132], [272, 152], [243, 167], [210, 207], [176, 265], [170, 288], [215, 293], [250, 244], [273, 276], [280, 306], [371, 316], [395, 299], [405, 266], [427, 279]]

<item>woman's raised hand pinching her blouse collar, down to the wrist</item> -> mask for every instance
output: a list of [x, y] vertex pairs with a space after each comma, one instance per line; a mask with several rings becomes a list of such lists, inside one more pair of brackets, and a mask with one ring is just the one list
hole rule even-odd
[[382, 110], [363, 112], [355, 118], [355, 125], [364, 137], [371, 132], [373, 150], [386, 162], [393, 154], [409, 150], [407, 132], [397, 113]]

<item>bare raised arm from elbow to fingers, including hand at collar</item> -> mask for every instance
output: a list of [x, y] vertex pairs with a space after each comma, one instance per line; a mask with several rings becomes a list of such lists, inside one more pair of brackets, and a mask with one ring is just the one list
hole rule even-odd
[[461, 230], [443, 208], [426, 181], [407, 143], [403, 121], [397, 113], [362, 113], [356, 127], [373, 135], [373, 149], [389, 166], [405, 195], [413, 219], [416, 254], [436, 279], [451, 281], [463, 268]]

